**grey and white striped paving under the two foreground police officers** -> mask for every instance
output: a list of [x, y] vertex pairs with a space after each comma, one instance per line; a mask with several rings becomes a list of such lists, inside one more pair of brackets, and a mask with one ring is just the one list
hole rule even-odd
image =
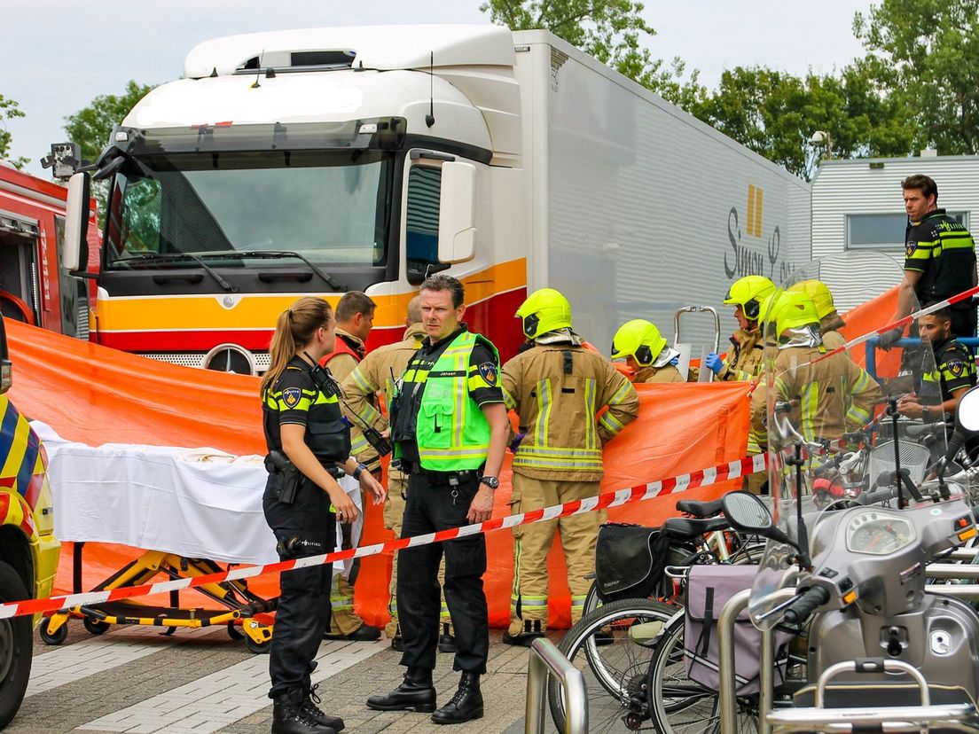
[[[370, 711], [364, 701], [400, 681], [399, 654], [376, 643], [324, 642], [314, 680], [321, 708], [341, 715], [351, 734], [439, 732], [472, 734], [524, 730], [528, 651], [490, 633], [482, 719], [452, 726], [429, 714]], [[439, 655], [434, 679], [440, 704], [455, 691], [452, 656]], [[35, 634], [31, 679], [10, 734], [131, 732], [267, 734], [271, 722], [268, 658], [253, 655], [220, 627], [178, 631], [117, 627], [93, 636], [72, 620], [66, 642], [44, 644]]]

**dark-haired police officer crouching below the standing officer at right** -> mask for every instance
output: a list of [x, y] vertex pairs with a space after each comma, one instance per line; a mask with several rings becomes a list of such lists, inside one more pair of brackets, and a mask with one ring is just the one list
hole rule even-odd
[[935, 369], [922, 376], [921, 394], [904, 395], [898, 410], [925, 423], [955, 416], [956, 406], [965, 391], [976, 384], [976, 364], [972, 352], [959, 344], [952, 333], [952, 312], [948, 307], [921, 316], [918, 332], [935, 353]]

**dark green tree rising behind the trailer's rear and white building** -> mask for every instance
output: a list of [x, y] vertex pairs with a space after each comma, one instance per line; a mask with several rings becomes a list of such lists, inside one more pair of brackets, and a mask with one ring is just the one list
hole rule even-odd
[[862, 62], [837, 75], [798, 77], [736, 67], [691, 112], [756, 153], [810, 180], [823, 150], [810, 143], [827, 130], [834, 158], [904, 156], [913, 126], [873, 82]]

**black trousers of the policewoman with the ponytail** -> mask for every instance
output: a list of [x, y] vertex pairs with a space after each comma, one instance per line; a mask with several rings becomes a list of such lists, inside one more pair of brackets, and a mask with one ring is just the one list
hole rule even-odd
[[[286, 561], [332, 552], [337, 521], [330, 512], [329, 495], [303, 479], [296, 501], [284, 505], [270, 484], [271, 480], [265, 485], [262, 509], [279, 544], [279, 558]], [[313, 658], [330, 614], [331, 572], [332, 566], [326, 564], [280, 574], [281, 591], [268, 659], [272, 679], [269, 698], [309, 686], [309, 675], [316, 667]]]

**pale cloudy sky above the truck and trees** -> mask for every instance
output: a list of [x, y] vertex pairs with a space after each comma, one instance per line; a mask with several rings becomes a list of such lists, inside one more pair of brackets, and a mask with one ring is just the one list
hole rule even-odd
[[[862, 56], [854, 14], [867, 0], [647, 0], [657, 31], [655, 57], [680, 57], [714, 87], [723, 69], [764, 65], [829, 73]], [[480, 0], [0, 0], [4, 73], [0, 95], [25, 117], [0, 121], [13, 135], [13, 158], [48, 177], [38, 161], [66, 140], [65, 117], [129, 79], [177, 78], [187, 52], [222, 35], [282, 28], [380, 23], [489, 23]]]

